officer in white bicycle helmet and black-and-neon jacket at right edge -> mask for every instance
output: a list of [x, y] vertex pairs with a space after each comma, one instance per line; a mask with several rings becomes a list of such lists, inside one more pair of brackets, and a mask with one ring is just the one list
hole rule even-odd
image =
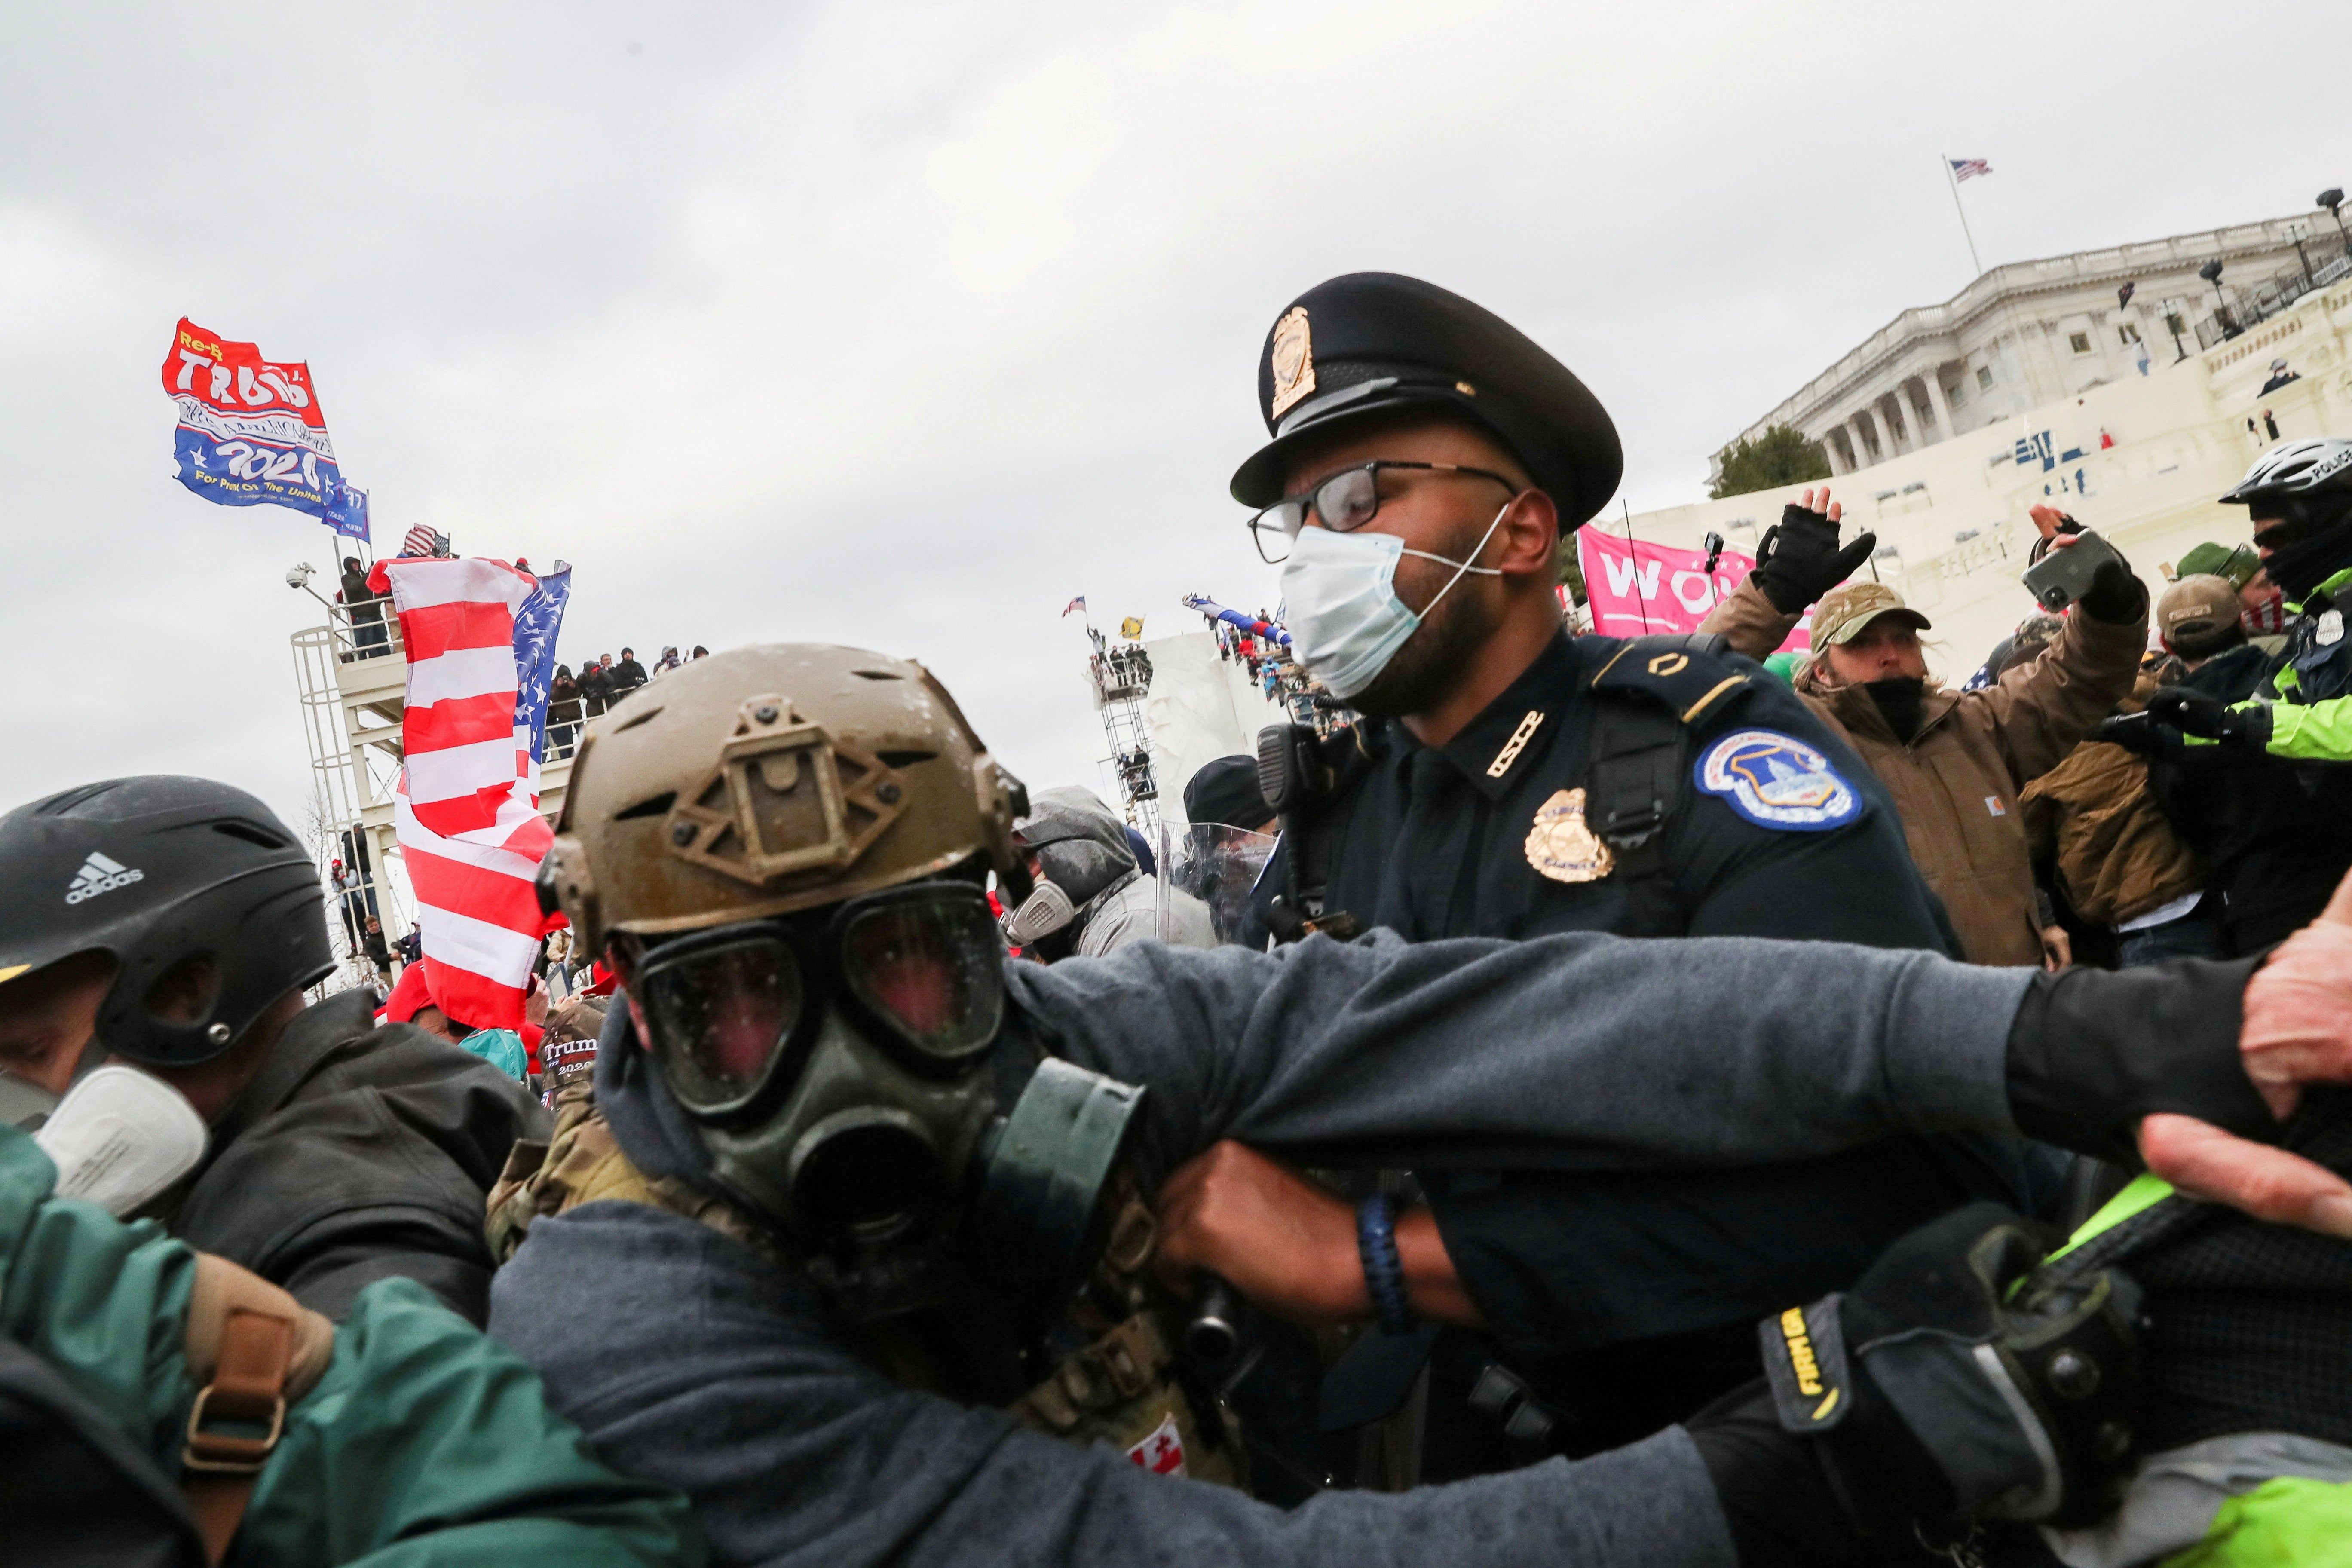
[[2352, 442], [2279, 442], [2220, 501], [2251, 515], [2296, 616], [2286, 646], [2216, 658], [2100, 733], [2154, 755], [2157, 799], [2213, 867], [2227, 950], [2260, 952], [2352, 865]]

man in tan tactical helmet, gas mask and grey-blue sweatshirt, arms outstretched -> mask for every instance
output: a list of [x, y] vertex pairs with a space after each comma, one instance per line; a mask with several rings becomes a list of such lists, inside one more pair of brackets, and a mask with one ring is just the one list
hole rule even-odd
[[[1653, 1168], [1898, 1126], [2114, 1154], [2138, 1128], [2159, 1166], [2206, 1159], [2206, 1192], [2237, 1166], [2284, 1178], [2267, 1190], [2298, 1213], [2352, 1204], [2192, 1119], [2274, 1131], [2244, 1065], [2272, 1058], [2241, 1058], [2241, 1027], [2307, 1051], [2265, 1067], [2281, 1093], [2352, 1074], [2352, 985], [2326, 954], [2253, 985], [2249, 966], [2053, 980], [1604, 936], [1007, 964], [983, 889], [1028, 893], [1021, 788], [929, 672], [760, 646], [687, 665], [656, 698], [588, 736], [543, 870], [628, 994], [597, 1110], [517, 1152], [492, 1331], [600, 1455], [687, 1490], [727, 1561], [1127, 1563], [1150, 1542], [1362, 1566], [1442, 1542], [1482, 1561], [1724, 1563], [1790, 1530], [1825, 1552], [1907, 1542], [1915, 1516], [2020, 1486], [2013, 1502], [2065, 1507], [2112, 1465], [2079, 1422], [2030, 1415], [2042, 1373], [2013, 1347], [2105, 1333], [2122, 1389], [2126, 1331], [2089, 1298], [2011, 1298], [2025, 1253], [1978, 1213], [1863, 1281], [1837, 1340], [1856, 1354], [1832, 1366], [1851, 1382], [1809, 1394], [1809, 1415], [1757, 1387], [1602, 1460], [1291, 1514], [1171, 1486], [1237, 1469], [1214, 1385], [1176, 1352], [1183, 1312], [1148, 1279], [1148, 1194], [1218, 1138], [1317, 1164]], [[1940, 1284], [1917, 1288], [1922, 1269]], [[1957, 1352], [1919, 1356], [1985, 1399], [1938, 1418], [1879, 1387], [1905, 1324], [1943, 1326], [1931, 1338]], [[2016, 1403], [1969, 1382], [1992, 1363], [2018, 1366], [1997, 1380]], [[1804, 1392], [1830, 1363], [1792, 1366]], [[1863, 1488], [1858, 1514], [1830, 1474]]]

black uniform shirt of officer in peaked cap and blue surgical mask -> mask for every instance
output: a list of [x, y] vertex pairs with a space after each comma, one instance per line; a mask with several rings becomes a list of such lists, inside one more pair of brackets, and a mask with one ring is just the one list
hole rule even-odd
[[[1738, 682], [1715, 691], [1684, 724], [1691, 764], [1726, 736], [1788, 736], [1828, 759], [1860, 797], [1858, 813], [1825, 832], [1757, 823], [1733, 797], [1686, 776], [1665, 825], [1668, 872], [1656, 889], [1663, 900], [1637, 898], [1616, 875], [1557, 882], [1538, 872], [1529, 832], [1545, 802], [1585, 783], [1597, 708], [1670, 701], [1663, 686], [1595, 693], [1595, 677], [1628, 649], [1618, 637], [1552, 639], [1442, 748], [1421, 745], [1402, 724], [1367, 726], [1371, 766], [1322, 825], [1334, 835], [1324, 910], [1345, 910], [1364, 926], [1390, 926], [1416, 943], [1616, 931], [1820, 938], [1959, 954], [1943, 905], [1912, 865], [1886, 788], [1795, 691], [1738, 654], [1677, 672], [1675, 696], [1708, 696], [1724, 679]], [[1505, 755], [1512, 741], [1517, 752]], [[1277, 865], [1261, 889], [1279, 886]]]

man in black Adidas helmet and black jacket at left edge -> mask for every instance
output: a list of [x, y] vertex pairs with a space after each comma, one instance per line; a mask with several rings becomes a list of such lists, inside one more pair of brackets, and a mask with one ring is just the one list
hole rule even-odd
[[522, 1084], [374, 994], [303, 1006], [334, 969], [318, 867], [268, 806], [209, 778], [111, 778], [0, 818], [0, 1074], [45, 1114], [120, 1058], [209, 1126], [160, 1199], [172, 1234], [341, 1316], [386, 1274], [475, 1324], [489, 1253], [470, 1213], [515, 1138]]

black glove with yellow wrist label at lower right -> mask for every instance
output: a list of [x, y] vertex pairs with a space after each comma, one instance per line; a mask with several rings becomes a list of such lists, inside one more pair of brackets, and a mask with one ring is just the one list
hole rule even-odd
[[[2117, 1269], [2034, 1276], [2053, 1239], [1971, 1204], [1896, 1241], [1853, 1291], [1762, 1324], [1762, 1399], [1818, 1474], [1773, 1443], [1755, 1389], [1689, 1422], [1743, 1563], [1853, 1556], [1976, 1516], [2084, 1523], [2114, 1505], [2140, 1288]], [[1823, 1519], [1823, 1493], [1851, 1535]]]

